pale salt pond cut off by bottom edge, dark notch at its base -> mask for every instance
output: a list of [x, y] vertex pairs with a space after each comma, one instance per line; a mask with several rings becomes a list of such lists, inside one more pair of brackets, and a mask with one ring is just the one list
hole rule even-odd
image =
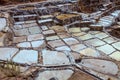
[[40, 72], [35, 80], [68, 80], [73, 74], [72, 70], [52, 70]]

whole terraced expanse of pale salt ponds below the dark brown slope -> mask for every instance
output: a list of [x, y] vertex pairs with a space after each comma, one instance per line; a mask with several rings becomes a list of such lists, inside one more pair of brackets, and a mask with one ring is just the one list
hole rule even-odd
[[89, 15], [76, 6], [50, 1], [5, 8], [0, 80], [120, 80], [120, 39], [109, 34], [120, 26], [119, 9], [95, 22], [104, 11]]

